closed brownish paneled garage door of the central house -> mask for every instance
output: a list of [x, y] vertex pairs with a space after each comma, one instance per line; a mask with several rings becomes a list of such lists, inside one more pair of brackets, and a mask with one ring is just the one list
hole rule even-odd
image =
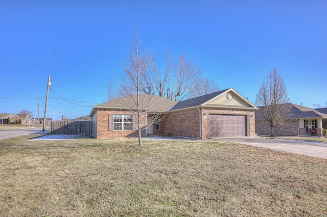
[[247, 135], [245, 115], [209, 114], [210, 137], [245, 137]]

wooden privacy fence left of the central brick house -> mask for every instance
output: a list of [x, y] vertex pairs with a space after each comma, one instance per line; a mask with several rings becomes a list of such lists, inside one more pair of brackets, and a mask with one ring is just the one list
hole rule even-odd
[[49, 134], [79, 135], [92, 134], [92, 121], [51, 121]]

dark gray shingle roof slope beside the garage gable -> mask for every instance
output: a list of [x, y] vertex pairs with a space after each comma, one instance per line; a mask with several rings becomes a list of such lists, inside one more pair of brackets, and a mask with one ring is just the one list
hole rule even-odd
[[[228, 90], [228, 89], [226, 89]], [[211, 100], [212, 98], [222, 94], [223, 92], [225, 92], [226, 90], [222, 90], [222, 91], [218, 91], [215, 93], [209, 93], [203, 96], [198, 96], [192, 99], [186, 99], [184, 101], [180, 101], [177, 102], [172, 108], [170, 108], [169, 111], [174, 111], [174, 110], [179, 110], [182, 108], [188, 108], [188, 107], [195, 107], [195, 106], [199, 106], [209, 100]]]

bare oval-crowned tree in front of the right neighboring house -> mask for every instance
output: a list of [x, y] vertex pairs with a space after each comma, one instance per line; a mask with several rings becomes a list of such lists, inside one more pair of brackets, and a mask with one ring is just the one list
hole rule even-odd
[[283, 124], [290, 111], [290, 99], [281, 74], [277, 69], [270, 69], [256, 93], [256, 105], [262, 106], [259, 110], [261, 120], [267, 122], [271, 129], [271, 136], [274, 135], [274, 126]]

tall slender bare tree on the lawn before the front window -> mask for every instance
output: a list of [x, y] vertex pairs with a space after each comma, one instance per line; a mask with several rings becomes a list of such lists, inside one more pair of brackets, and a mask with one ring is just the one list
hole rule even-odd
[[[138, 38], [138, 30], [134, 33], [133, 45], [129, 48], [129, 61], [124, 65], [124, 78], [121, 87], [127, 97], [121, 107], [129, 110], [136, 119], [136, 129], [138, 131], [138, 145], [142, 146], [142, 130], [152, 127], [165, 118], [162, 108], [165, 104], [160, 96], [154, 96], [152, 78], [149, 78], [149, 56], [142, 50], [142, 41]], [[146, 94], [142, 94], [145, 92]], [[172, 104], [169, 106], [171, 107]], [[169, 108], [168, 107], [168, 108]]]

